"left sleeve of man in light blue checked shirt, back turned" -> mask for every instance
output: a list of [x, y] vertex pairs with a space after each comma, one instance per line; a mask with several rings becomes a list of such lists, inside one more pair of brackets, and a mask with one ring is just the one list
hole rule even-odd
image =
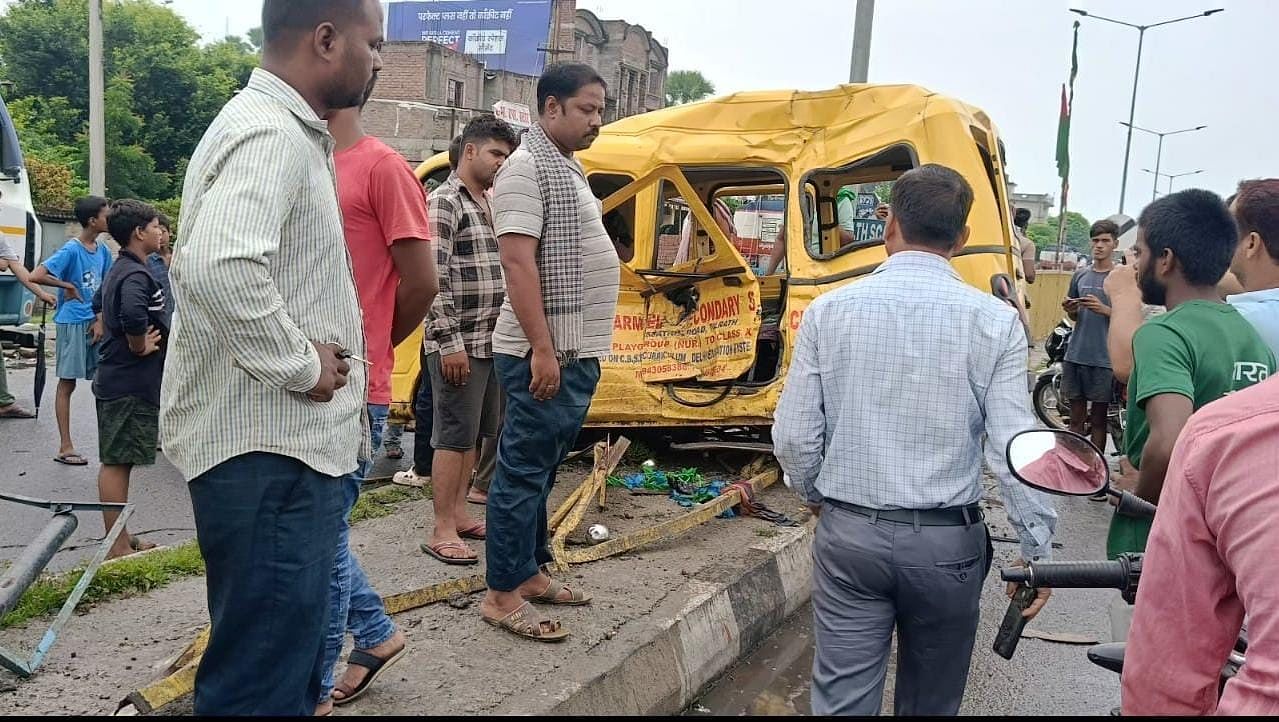
[[826, 455], [826, 415], [817, 355], [819, 313], [820, 304], [813, 304], [799, 323], [787, 385], [773, 418], [773, 452], [785, 472], [787, 486], [808, 505], [821, 503], [817, 475]]

